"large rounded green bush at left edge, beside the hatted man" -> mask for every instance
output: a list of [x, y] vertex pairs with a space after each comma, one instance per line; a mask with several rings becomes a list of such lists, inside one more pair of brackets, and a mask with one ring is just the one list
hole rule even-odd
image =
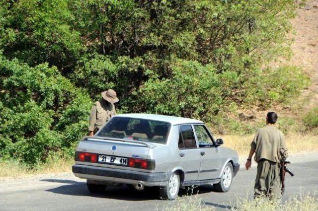
[[70, 148], [86, 131], [91, 102], [56, 68], [0, 55], [0, 155], [31, 167]]

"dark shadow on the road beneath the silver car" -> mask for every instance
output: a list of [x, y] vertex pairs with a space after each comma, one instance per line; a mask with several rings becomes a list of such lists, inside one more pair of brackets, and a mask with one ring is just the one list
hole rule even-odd
[[[70, 196], [91, 196], [107, 199], [118, 199], [125, 201], [148, 201], [148, 200], [160, 200], [159, 189], [155, 187], [146, 187], [143, 191], [137, 191], [134, 188], [122, 186], [107, 186], [106, 190], [102, 194], [92, 194], [86, 188], [85, 182], [77, 182], [74, 180], [59, 180], [59, 179], [43, 179], [45, 182], [65, 183], [68, 185], [61, 185], [57, 188], [48, 189], [46, 191], [55, 194], [63, 194]], [[200, 186], [193, 189], [180, 189], [179, 196], [189, 196], [196, 194], [204, 194], [212, 191], [209, 186]], [[208, 205], [208, 204], [207, 204]], [[216, 205], [217, 207], [217, 205]]]

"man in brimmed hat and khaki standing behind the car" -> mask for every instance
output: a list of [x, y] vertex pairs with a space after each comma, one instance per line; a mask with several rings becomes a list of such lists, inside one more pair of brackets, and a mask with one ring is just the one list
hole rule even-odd
[[102, 98], [96, 101], [89, 116], [89, 135], [94, 134], [114, 115], [116, 115], [115, 105], [119, 99], [116, 92], [108, 89], [101, 93]]

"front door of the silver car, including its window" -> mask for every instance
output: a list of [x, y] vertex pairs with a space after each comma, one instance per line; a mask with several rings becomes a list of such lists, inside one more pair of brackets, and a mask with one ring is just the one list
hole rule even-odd
[[201, 155], [198, 180], [216, 179], [222, 168], [220, 151], [205, 125], [193, 125], [193, 128]]

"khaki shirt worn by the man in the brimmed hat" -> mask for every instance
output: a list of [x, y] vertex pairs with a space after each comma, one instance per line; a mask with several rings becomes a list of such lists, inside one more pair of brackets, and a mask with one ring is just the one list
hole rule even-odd
[[99, 130], [114, 115], [116, 110], [113, 103], [105, 104], [102, 99], [96, 101], [91, 108], [88, 131]]

